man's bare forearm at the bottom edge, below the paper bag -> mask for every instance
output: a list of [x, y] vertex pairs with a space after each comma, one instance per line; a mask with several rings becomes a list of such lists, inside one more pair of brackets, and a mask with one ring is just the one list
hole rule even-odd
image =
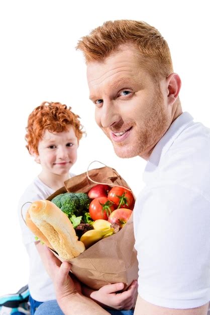
[[66, 297], [58, 300], [58, 304], [65, 315], [85, 314], [85, 315], [108, 315], [105, 309], [100, 307], [90, 298], [80, 294], [73, 294], [71, 298]]

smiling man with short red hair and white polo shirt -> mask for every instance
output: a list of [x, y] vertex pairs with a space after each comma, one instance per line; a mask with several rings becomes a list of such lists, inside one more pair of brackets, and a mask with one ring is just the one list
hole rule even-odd
[[[120, 157], [147, 160], [134, 208], [136, 315], [206, 315], [210, 299], [210, 131], [182, 112], [168, 45], [144, 22], [109, 21], [78, 42], [98, 126]], [[51, 257], [48, 253], [49, 258]], [[106, 314], [51, 258], [66, 315]]]

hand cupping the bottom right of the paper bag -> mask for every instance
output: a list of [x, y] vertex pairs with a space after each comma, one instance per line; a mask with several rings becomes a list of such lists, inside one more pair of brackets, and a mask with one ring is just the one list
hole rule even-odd
[[131, 309], [135, 306], [137, 298], [137, 281], [134, 280], [128, 289], [122, 293], [117, 293], [124, 288], [123, 283], [104, 285], [97, 291], [87, 287], [82, 287], [82, 293], [102, 306], [109, 306], [115, 309]]

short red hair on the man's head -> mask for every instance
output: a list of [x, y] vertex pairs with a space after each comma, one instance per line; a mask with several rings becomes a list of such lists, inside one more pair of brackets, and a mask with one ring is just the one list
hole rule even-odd
[[83, 36], [76, 48], [84, 54], [85, 61], [104, 61], [121, 45], [133, 45], [139, 62], [158, 82], [173, 72], [170, 50], [166, 40], [153, 26], [143, 21], [116, 20], [104, 22]]

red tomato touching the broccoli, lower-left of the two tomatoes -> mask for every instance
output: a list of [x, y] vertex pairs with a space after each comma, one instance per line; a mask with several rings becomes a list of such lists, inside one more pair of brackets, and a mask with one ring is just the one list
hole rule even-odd
[[107, 197], [95, 198], [89, 205], [89, 213], [94, 221], [97, 219], [108, 220], [110, 213], [114, 210], [113, 202]]

